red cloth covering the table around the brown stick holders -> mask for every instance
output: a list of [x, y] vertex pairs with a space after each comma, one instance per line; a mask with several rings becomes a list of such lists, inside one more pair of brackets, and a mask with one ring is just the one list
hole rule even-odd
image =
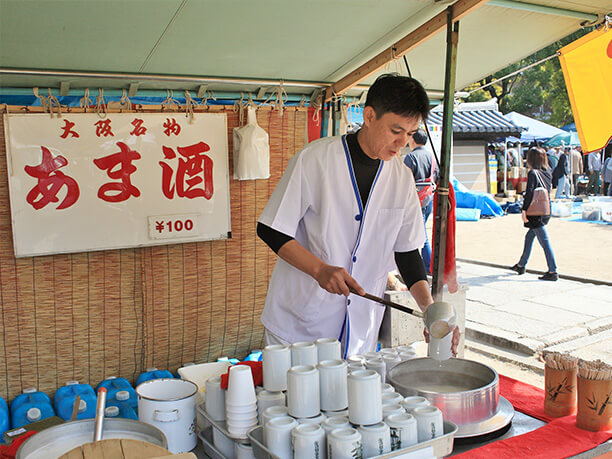
[[529, 457], [551, 459], [573, 456], [612, 438], [612, 430], [589, 432], [576, 427], [576, 416], [551, 418], [544, 413], [544, 391], [530, 384], [499, 375], [499, 392], [514, 409], [543, 421], [539, 429], [506, 438], [458, 454], [459, 458], [504, 459]]

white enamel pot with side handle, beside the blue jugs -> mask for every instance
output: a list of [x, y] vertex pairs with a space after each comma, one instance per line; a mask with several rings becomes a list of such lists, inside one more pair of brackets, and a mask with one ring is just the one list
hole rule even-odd
[[171, 453], [196, 447], [198, 386], [184, 379], [152, 379], [136, 387], [138, 419], [161, 430]]

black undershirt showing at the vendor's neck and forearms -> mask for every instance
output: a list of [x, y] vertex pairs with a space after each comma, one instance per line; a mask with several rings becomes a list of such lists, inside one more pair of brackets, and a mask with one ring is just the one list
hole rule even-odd
[[[376, 173], [380, 166], [380, 159], [372, 159], [365, 154], [357, 141], [357, 134], [348, 134], [346, 136], [346, 143], [349, 148], [351, 162], [353, 163], [353, 172], [355, 174], [355, 180], [357, 181], [361, 202], [365, 208], [372, 184], [374, 183]], [[283, 245], [293, 239], [291, 236], [276, 231], [259, 222], [257, 223], [257, 235], [275, 253], [278, 253]], [[427, 279], [423, 259], [418, 250], [395, 252], [395, 263], [408, 288], [420, 280]]]

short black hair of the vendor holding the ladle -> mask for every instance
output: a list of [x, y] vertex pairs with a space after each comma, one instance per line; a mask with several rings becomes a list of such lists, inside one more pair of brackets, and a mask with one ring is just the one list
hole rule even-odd
[[372, 107], [377, 118], [391, 112], [424, 121], [429, 115], [429, 97], [423, 85], [414, 78], [392, 73], [379, 76], [370, 86], [365, 106]]

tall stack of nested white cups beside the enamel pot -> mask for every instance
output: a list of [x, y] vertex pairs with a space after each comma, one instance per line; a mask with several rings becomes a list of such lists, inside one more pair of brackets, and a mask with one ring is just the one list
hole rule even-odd
[[234, 365], [229, 369], [225, 394], [227, 431], [236, 438], [246, 438], [257, 425], [257, 398], [251, 368]]

